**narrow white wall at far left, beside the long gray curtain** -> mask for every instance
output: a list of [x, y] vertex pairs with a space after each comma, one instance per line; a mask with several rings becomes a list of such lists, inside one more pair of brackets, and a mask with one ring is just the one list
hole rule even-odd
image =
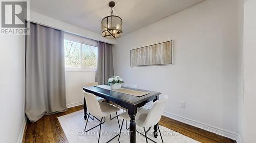
[[25, 125], [25, 36], [0, 36], [1, 142], [22, 139]]

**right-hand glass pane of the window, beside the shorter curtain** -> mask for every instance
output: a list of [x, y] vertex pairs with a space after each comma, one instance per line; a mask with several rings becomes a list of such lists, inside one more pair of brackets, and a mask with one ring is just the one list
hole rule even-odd
[[82, 67], [97, 68], [98, 47], [82, 44]]

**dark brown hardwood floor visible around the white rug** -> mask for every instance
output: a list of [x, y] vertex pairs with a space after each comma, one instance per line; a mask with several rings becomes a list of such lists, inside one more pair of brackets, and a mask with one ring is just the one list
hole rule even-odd
[[[35, 142], [67, 142], [68, 140], [58, 122], [57, 117], [67, 115], [69, 113], [83, 109], [83, 106], [76, 106], [69, 108], [66, 112], [56, 113], [54, 115], [47, 115], [42, 117], [35, 123], [27, 122], [25, 133], [23, 137], [23, 143], [35, 143]], [[162, 117], [159, 125], [165, 126], [169, 129], [184, 134], [190, 138], [198, 140], [200, 142], [223, 142], [234, 143], [235, 140], [227, 137], [220, 136], [215, 133], [211, 133], [194, 126], [190, 126], [179, 121]]]

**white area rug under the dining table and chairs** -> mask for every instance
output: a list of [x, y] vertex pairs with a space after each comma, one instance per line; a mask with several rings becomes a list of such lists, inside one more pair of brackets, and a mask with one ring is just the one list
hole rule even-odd
[[[120, 111], [121, 112], [121, 111]], [[114, 117], [113, 115], [112, 117]], [[104, 124], [101, 125], [101, 135], [100, 135], [100, 143], [107, 142], [115, 135], [119, 133], [119, 127], [117, 118], [110, 120], [110, 117], [106, 117], [106, 121]], [[98, 142], [98, 133], [99, 133], [99, 126], [94, 128], [89, 132], [84, 132], [84, 127], [86, 125], [86, 120], [83, 119], [83, 110], [79, 110], [73, 113], [70, 113], [65, 116], [58, 117], [59, 123], [69, 141], [69, 143], [89, 143], [89, 142]], [[120, 125], [122, 120], [119, 118]], [[99, 122], [95, 120], [89, 119], [88, 121], [88, 128], [94, 127], [98, 125]], [[127, 123], [129, 126], [129, 123]], [[184, 136], [178, 132], [165, 128], [163, 126], [159, 126], [160, 131], [162, 132], [162, 137], [164, 143], [195, 143], [198, 142], [192, 138]], [[136, 127], [136, 129], [140, 132], [143, 131], [143, 128]], [[148, 137], [151, 139], [162, 142], [160, 135], [157, 138], [154, 138], [153, 135], [154, 129], [152, 128], [150, 132], [147, 133]], [[145, 137], [137, 133], [136, 142], [146, 142]], [[118, 137], [116, 137], [111, 142], [118, 142]], [[129, 131], [125, 129], [125, 121], [122, 128], [122, 135], [120, 136], [120, 142], [129, 143]], [[148, 140], [148, 142], [153, 142]]]

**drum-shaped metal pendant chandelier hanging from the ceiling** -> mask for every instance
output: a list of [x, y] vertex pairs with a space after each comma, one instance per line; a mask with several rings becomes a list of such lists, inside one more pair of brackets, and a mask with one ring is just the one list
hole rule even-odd
[[115, 2], [110, 2], [111, 15], [106, 16], [101, 20], [101, 32], [102, 37], [108, 39], [116, 39], [122, 36], [123, 20], [119, 16], [113, 15], [112, 8], [115, 6]]

